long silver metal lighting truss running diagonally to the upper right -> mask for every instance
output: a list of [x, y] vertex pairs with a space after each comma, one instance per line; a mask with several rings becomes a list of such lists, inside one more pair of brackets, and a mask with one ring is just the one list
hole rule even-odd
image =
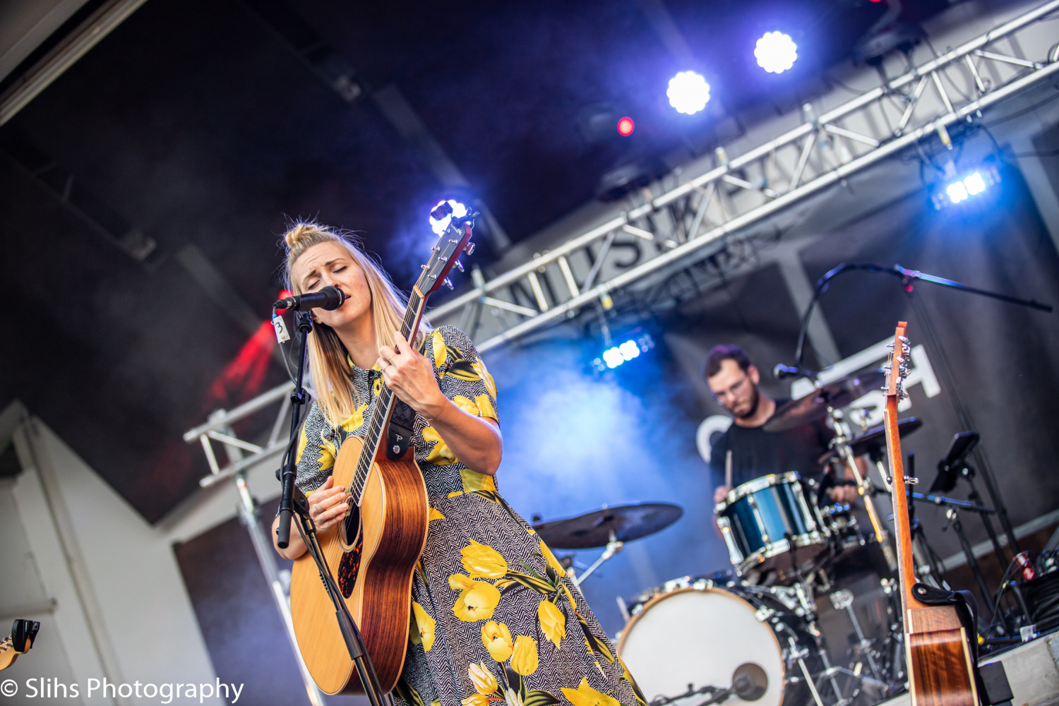
[[[734, 158], [719, 147], [701, 176], [488, 282], [475, 271], [474, 288], [430, 318], [436, 323], [459, 312], [461, 327], [484, 351], [585, 307], [608, 309], [612, 292], [699, 261], [725, 236], [923, 138], [948, 141], [948, 126], [973, 121], [1055, 74], [1059, 47], [1029, 60], [1019, 56], [1019, 39], [1040, 46], [1031, 28], [1057, 10], [1059, 1], [1045, 3], [820, 115], [807, 104], [802, 124], [784, 134]], [[621, 261], [629, 247], [640, 252], [631, 268]]]

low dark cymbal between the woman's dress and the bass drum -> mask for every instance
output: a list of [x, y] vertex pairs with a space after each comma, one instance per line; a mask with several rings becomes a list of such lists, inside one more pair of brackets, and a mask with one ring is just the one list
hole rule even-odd
[[566, 520], [539, 522], [533, 526], [544, 542], [555, 549], [589, 549], [607, 546], [610, 535], [622, 542], [647, 537], [665, 529], [684, 514], [670, 503], [635, 503], [604, 506], [602, 509]]

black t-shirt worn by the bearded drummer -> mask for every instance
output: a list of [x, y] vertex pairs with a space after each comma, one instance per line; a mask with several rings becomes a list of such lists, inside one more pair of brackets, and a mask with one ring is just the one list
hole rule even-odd
[[[776, 400], [776, 409], [786, 400]], [[713, 487], [724, 485], [724, 458], [732, 451], [732, 487], [769, 473], [796, 471], [803, 478], [820, 481], [818, 459], [827, 451], [833, 434], [823, 422], [806, 422], [786, 432], [767, 432], [761, 427], [732, 423], [712, 446], [710, 471]]]

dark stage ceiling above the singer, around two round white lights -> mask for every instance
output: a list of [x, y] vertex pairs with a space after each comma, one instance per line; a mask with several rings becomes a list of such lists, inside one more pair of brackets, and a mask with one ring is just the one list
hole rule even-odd
[[[106, 4], [88, 2], [0, 89]], [[922, 20], [950, 2], [904, 4]], [[279, 291], [285, 218], [359, 231], [407, 288], [429, 206], [464, 184], [500, 227], [479, 237], [488, 271], [592, 200], [623, 155], [686, 159], [718, 126], [737, 130], [737, 112], [826, 90], [884, 12], [149, 0], [0, 127], [0, 272], [28, 305], [8, 311], [0, 405], [21, 399], [157, 522], [205, 472], [181, 434], [286, 377], [269, 331], [252, 338]], [[801, 55], [780, 76], [752, 55], [776, 26]], [[714, 97], [684, 120], [664, 93], [689, 66]], [[631, 141], [587, 139], [599, 105], [634, 117]]]

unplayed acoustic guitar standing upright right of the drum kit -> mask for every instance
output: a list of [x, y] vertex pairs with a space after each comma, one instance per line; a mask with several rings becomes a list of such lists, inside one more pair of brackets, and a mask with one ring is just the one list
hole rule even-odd
[[[948, 594], [916, 580], [912, 562], [912, 527], [907, 483], [897, 427], [897, 403], [903, 399], [908, 375], [909, 340], [905, 322], [897, 325], [886, 382], [886, 452], [894, 500], [894, 537], [897, 540], [898, 577], [904, 626], [904, 656], [913, 706], [977, 706], [974, 665], [967, 631], [956, 607], [931, 604], [935, 594]], [[944, 597], [943, 597], [944, 599]], [[933, 602], [933, 601], [932, 601]]]

